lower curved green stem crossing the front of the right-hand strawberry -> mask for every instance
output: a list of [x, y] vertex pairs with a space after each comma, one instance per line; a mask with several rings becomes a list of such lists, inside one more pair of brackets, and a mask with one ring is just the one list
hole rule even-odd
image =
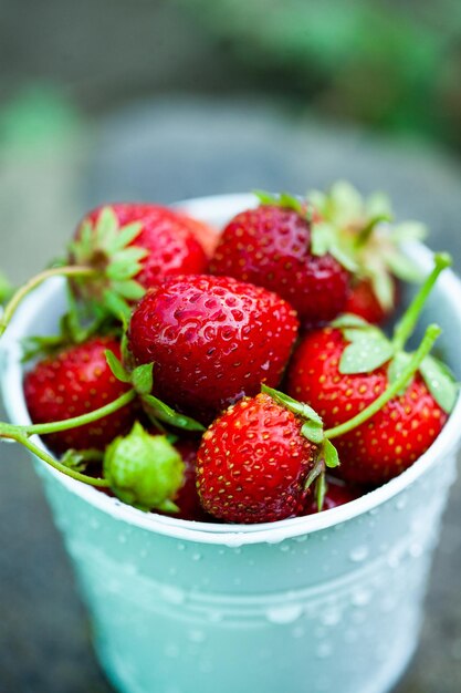
[[363, 412], [357, 414], [357, 416], [349, 418], [349, 421], [346, 421], [344, 424], [339, 424], [338, 426], [334, 426], [333, 428], [328, 428], [327, 431], [325, 431], [325, 437], [329, 439], [337, 438], [339, 435], [344, 435], [345, 433], [348, 433], [353, 428], [356, 428], [360, 424], [365, 423], [366, 421], [368, 421], [368, 418], [374, 416], [374, 414], [379, 412], [379, 410], [383, 408], [383, 406], [387, 404], [389, 400], [398, 394], [400, 390], [406, 387], [408, 382], [411, 380], [411, 377], [415, 375], [416, 371], [420, 366], [423, 359], [432, 349], [433, 343], [439, 334], [441, 334], [441, 329], [439, 328], [439, 325], [429, 325], [426, 330], [425, 337], [422, 338], [419, 348], [412, 354], [407, 368], [404, 369], [397, 380], [395, 380], [395, 382], [389, 385], [387, 390], [385, 390], [385, 392], [377, 400], [375, 400], [375, 402], [371, 402], [369, 406], [367, 406]]

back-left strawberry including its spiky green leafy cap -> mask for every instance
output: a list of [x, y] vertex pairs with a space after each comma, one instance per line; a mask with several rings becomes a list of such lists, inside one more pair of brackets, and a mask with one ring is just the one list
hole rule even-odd
[[78, 281], [80, 292], [127, 314], [126, 301], [166, 277], [205, 270], [200, 235], [206, 237], [205, 224], [159, 205], [97, 207], [83, 218], [70, 247], [72, 262], [96, 270], [91, 280]]

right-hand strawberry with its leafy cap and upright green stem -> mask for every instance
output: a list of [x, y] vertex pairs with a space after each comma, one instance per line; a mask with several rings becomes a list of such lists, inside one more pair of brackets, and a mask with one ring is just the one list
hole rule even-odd
[[[329, 428], [327, 437], [337, 436], [339, 473], [346, 479], [383, 484], [400, 474], [433, 443], [454, 405], [457, 389], [451, 374], [425, 354], [418, 371], [407, 377], [407, 386], [396, 391], [371, 417], [360, 421], [362, 413], [409, 368], [411, 356], [404, 351], [405, 342], [448, 263], [446, 256], [436, 256], [433, 271], [391, 341], [378, 328], [346, 316], [334, 327], [307, 334], [293, 356], [287, 392], [318, 412]], [[342, 425], [355, 417], [354, 426]]]

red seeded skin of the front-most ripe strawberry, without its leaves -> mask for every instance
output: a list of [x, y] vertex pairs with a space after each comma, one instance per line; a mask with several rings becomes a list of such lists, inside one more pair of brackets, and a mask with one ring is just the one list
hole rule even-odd
[[197, 487], [203, 508], [229, 523], [272, 523], [298, 514], [314, 445], [302, 422], [266, 394], [241, 400], [203, 434]]

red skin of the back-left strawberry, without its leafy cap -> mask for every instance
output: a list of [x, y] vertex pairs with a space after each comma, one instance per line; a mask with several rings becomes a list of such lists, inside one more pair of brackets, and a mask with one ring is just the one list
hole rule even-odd
[[[200, 227], [205, 237], [206, 225], [160, 205], [117, 203], [111, 207], [121, 227], [134, 221], [143, 225], [130, 245], [148, 250], [148, 255], [140, 261], [143, 269], [136, 276], [144, 288], [155, 286], [165, 277], [205, 271], [208, 259], [197, 229]], [[94, 224], [102, 208], [91, 211], [83, 221]]]

